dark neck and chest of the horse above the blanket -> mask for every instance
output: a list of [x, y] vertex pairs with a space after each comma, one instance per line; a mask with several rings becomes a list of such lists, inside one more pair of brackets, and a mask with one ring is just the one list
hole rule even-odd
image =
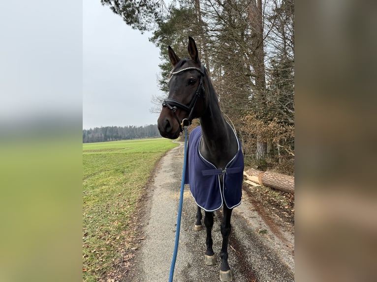
[[233, 130], [220, 111], [217, 98], [210, 100], [206, 113], [200, 118], [200, 125], [203, 135], [201, 154], [218, 168], [224, 169], [237, 153], [238, 143]]

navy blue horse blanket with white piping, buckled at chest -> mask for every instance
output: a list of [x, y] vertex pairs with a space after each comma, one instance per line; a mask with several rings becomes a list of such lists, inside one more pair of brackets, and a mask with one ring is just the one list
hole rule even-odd
[[[237, 135], [234, 133], [237, 138]], [[199, 145], [202, 139], [201, 127], [192, 130], [188, 139], [188, 155], [186, 163], [185, 184], [190, 185], [190, 192], [196, 204], [205, 211], [220, 209], [223, 199], [228, 208], [241, 203], [244, 171], [244, 155], [241, 142], [237, 138], [238, 151], [226, 165], [225, 169], [217, 169], [200, 154]], [[220, 184], [220, 175], [223, 184]]]

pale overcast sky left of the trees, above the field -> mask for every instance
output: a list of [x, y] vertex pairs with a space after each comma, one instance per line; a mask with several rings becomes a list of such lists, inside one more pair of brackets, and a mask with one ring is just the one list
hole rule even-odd
[[83, 1], [83, 129], [157, 123], [159, 50], [100, 0]]

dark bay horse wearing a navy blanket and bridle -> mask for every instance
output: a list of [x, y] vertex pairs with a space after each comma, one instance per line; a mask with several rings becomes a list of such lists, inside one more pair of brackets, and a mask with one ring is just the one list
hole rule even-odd
[[244, 157], [241, 142], [221, 113], [219, 100], [206, 68], [198, 57], [196, 43], [188, 37], [189, 58], [181, 59], [168, 46], [173, 70], [168, 82], [169, 95], [162, 103], [157, 127], [162, 137], [177, 139], [184, 126], [199, 118], [200, 126], [192, 130], [188, 141], [185, 183], [197, 204], [194, 229], [202, 226], [201, 209], [205, 211], [207, 265], [216, 263], [212, 249], [213, 212], [223, 207], [220, 224], [220, 280], [230, 282], [233, 274], [228, 264], [230, 218], [241, 203]]

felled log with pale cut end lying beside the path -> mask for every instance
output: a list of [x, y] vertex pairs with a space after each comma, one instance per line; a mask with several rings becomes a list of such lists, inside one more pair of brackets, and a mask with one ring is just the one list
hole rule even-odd
[[294, 194], [294, 177], [271, 171], [248, 169], [245, 182], [253, 186], [263, 185]]

